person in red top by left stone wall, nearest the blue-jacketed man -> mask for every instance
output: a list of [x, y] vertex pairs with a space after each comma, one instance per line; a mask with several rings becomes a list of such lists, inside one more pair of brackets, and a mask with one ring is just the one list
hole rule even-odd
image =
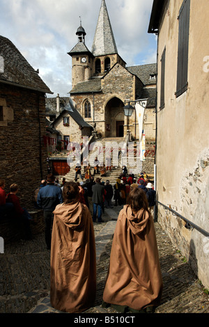
[[31, 234], [31, 228], [30, 228], [30, 221], [32, 221], [32, 218], [31, 218], [29, 212], [27, 212], [26, 209], [21, 207], [20, 200], [16, 195], [17, 191], [18, 191], [17, 184], [10, 185], [10, 193], [8, 193], [6, 201], [13, 203], [14, 209], [15, 209], [15, 215], [18, 219], [20, 219], [20, 223], [22, 223], [22, 225], [24, 227], [25, 239], [31, 239], [32, 234]]

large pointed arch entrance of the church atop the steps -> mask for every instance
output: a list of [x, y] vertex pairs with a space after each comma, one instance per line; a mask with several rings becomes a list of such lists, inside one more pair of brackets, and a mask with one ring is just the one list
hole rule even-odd
[[123, 137], [124, 113], [123, 101], [118, 97], [109, 99], [105, 106], [105, 137]]

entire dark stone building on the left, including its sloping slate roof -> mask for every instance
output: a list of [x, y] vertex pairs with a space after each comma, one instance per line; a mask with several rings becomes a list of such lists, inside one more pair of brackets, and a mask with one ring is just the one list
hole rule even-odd
[[0, 36], [0, 177], [19, 185], [22, 206], [47, 174], [45, 94], [52, 93], [10, 40]]

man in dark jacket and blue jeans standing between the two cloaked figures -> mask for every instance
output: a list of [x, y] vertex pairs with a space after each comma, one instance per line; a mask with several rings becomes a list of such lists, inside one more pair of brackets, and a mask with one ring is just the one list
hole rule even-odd
[[104, 195], [104, 186], [100, 184], [100, 178], [97, 177], [96, 184], [92, 186], [92, 202], [93, 202], [93, 221], [96, 220], [98, 210], [98, 223], [102, 223], [102, 202]]

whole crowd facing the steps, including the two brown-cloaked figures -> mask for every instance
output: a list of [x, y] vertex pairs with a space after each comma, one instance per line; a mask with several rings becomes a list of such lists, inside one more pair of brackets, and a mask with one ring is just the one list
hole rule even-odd
[[[82, 178], [82, 174], [80, 175]], [[137, 180], [123, 167], [116, 183], [88, 176], [85, 181], [59, 182], [52, 173], [34, 192], [34, 203], [45, 217], [45, 241], [51, 250], [51, 304], [63, 312], [84, 312], [93, 306], [96, 292], [93, 223], [102, 222], [104, 208], [121, 205], [111, 248], [104, 306], [119, 312], [153, 312], [162, 296], [162, 275], [153, 216], [155, 191], [146, 174]], [[16, 196], [18, 186], [4, 192], [0, 180], [0, 212], [26, 209]], [[26, 225], [25, 225], [26, 228]]]

